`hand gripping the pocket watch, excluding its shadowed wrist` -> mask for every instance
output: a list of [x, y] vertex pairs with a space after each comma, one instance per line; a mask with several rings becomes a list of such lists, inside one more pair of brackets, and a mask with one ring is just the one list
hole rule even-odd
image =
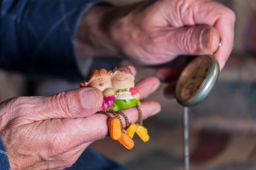
[[[118, 11], [118, 12], [117, 12]], [[235, 14], [212, 0], [145, 0], [116, 9], [113, 41], [129, 58], [143, 65], [169, 62], [178, 55], [215, 53], [221, 70], [233, 48]], [[156, 76], [169, 82], [173, 97], [180, 68], [160, 68]]]

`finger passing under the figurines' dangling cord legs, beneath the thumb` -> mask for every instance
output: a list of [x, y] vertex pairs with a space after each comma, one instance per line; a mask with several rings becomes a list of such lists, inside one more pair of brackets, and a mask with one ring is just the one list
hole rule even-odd
[[[146, 119], [159, 113], [161, 106], [157, 102], [143, 101], [141, 102], [140, 109], [143, 113], [143, 119]], [[133, 107], [123, 110], [123, 112], [127, 115], [130, 122], [135, 123], [139, 120], [137, 108]], [[122, 116], [120, 117], [126, 126], [125, 119]], [[69, 134], [70, 137], [63, 142], [67, 142], [68, 146], [77, 146], [82, 143], [105, 138], [108, 135], [107, 121], [108, 117], [99, 113], [80, 119], [64, 119], [62, 120], [63, 129], [65, 129], [65, 133]], [[58, 131], [56, 133], [59, 134]]]

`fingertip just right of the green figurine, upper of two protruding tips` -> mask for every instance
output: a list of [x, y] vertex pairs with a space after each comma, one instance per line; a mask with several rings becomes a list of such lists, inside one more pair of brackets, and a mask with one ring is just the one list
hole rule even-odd
[[146, 77], [136, 83], [135, 87], [140, 92], [140, 100], [145, 99], [160, 86], [160, 81], [157, 77]]

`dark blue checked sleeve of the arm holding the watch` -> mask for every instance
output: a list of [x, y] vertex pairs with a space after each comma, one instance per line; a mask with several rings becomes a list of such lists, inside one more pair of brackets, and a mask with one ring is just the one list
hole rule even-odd
[[75, 57], [76, 27], [99, 1], [1, 1], [0, 68], [31, 77], [83, 79]]

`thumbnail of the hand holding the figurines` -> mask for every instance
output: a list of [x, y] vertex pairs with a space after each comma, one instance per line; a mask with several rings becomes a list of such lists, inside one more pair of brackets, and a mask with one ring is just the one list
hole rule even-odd
[[99, 96], [93, 88], [89, 88], [81, 93], [81, 101], [86, 109], [93, 109], [99, 105]]

